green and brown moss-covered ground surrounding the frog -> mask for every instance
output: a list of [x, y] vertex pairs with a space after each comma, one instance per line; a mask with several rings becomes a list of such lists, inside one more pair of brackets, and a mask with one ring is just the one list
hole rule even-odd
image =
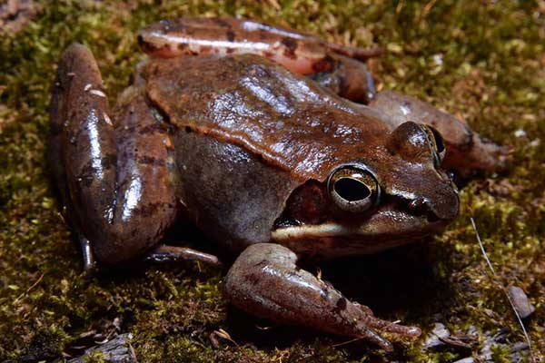
[[[0, 36], [0, 361], [62, 359], [90, 330], [133, 333], [141, 362], [449, 361], [471, 354], [422, 352], [421, 339], [398, 342], [384, 355], [364, 341], [337, 347], [345, 339], [270, 327], [230, 308], [221, 293], [224, 272], [197, 263], [84, 279], [45, 159], [56, 62], [68, 44], [87, 44], [113, 100], [143, 57], [135, 31], [184, 15], [243, 15], [345, 44], [374, 41], [388, 50], [372, 64], [379, 87], [419, 96], [512, 146], [510, 169], [469, 183], [460, 218], [440, 236], [325, 264], [322, 274], [381, 317], [420, 325], [424, 334], [437, 321], [461, 337], [476, 327], [469, 338], [474, 355], [499, 329], [508, 346], [522, 341], [507, 299], [490, 280], [471, 208], [497, 281], [520, 286], [537, 308], [525, 324], [535, 357], [545, 358], [543, 0], [84, 0], [47, 2], [20, 32]], [[193, 244], [199, 242], [214, 249]], [[213, 334], [219, 329], [236, 344]], [[510, 360], [507, 348], [494, 349], [493, 357]]]

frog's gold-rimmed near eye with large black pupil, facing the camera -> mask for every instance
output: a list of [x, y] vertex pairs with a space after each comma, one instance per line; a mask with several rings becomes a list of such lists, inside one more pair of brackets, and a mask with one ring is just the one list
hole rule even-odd
[[380, 187], [371, 172], [355, 165], [333, 170], [327, 181], [332, 201], [343, 211], [367, 211], [379, 200]]

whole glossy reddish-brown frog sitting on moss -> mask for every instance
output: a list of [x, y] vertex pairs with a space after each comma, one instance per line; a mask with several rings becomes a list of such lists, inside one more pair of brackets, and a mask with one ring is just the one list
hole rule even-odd
[[169, 245], [193, 224], [237, 256], [235, 307], [280, 324], [366, 338], [421, 329], [374, 316], [304, 260], [376, 253], [443, 231], [453, 172], [502, 170], [509, 151], [415, 97], [378, 92], [358, 48], [236, 17], [184, 17], [138, 35], [148, 57], [110, 108], [94, 55], [61, 56], [50, 147], [85, 270], [217, 256]]

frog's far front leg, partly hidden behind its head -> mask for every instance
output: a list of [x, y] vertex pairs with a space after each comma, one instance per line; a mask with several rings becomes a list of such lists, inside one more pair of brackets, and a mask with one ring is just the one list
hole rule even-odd
[[401, 93], [382, 91], [369, 105], [386, 113], [395, 126], [412, 121], [428, 124], [439, 131], [447, 149], [443, 162], [446, 169], [468, 175], [478, 170], [500, 170], [508, 162], [508, 148], [481, 138], [466, 123], [430, 103]]

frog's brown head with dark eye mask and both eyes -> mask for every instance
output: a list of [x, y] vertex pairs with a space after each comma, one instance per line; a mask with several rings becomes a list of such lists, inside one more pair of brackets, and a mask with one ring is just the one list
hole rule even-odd
[[441, 231], [458, 214], [458, 191], [441, 169], [439, 132], [402, 123], [326, 180], [292, 192], [272, 231], [293, 250], [325, 257], [372, 253]]

